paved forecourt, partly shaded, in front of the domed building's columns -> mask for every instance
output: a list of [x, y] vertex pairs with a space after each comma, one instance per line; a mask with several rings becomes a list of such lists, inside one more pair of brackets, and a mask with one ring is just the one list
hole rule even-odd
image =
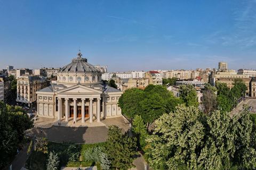
[[[27, 135], [45, 137], [52, 142], [75, 142], [75, 143], [99, 143], [105, 142], [108, 138], [108, 126], [117, 125], [124, 133], [129, 129], [129, 124], [123, 116], [106, 118], [101, 122], [94, 120], [93, 123], [61, 122], [52, 118], [37, 117], [34, 122], [35, 128], [26, 132]], [[41, 133], [42, 129], [42, 133]]]

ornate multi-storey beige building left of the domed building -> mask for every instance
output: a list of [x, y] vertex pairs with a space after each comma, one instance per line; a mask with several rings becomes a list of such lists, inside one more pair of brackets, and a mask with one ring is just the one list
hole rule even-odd
[[31, 106], [36, 101], [36, 91], [47, 87], [45, 78], [38, 75], [22, 75], [17, 79], [17, 103]]

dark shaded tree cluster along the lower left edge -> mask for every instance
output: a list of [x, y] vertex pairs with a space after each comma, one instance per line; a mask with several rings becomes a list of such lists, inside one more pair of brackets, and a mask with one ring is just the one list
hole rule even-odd
[[24, 132], [33, 128], [26, 111], [0, 101], [0, 167], [9, 163], [22, 141]]

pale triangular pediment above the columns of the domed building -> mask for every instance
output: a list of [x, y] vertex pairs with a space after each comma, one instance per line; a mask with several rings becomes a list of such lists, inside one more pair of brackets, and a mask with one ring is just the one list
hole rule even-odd
[[101, 94], [102, 91], [90, 87], [82, 86], [80, 84], [61, 89], [57, 94]]

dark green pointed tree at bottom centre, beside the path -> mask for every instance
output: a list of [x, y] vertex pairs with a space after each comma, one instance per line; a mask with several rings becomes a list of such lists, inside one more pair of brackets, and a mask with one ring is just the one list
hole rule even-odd
[[136, 138], [123, 135], [116, 125], [109, 126], [106, 154], [111, 160], [112, 167], [126, 170], [133, 167]]

